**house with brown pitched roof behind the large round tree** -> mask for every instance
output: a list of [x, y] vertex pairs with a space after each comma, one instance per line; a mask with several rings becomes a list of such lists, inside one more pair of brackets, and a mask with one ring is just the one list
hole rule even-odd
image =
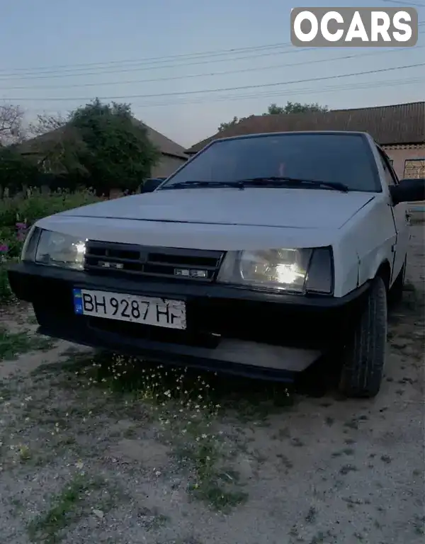
[[[140, 120], [134, 119], [134, 122], [145, 126], [149, 140], [161, 152], [159, 162], [152, 168], [152, 177], [169, 176], [188, 160], [188, 156], [181, 145], [145, 125]], [[72, 142], [77, 143], [78, 139], [77, 131], [69, 125], [64, 125], [56, 130], [26, 140], [16, 146], [16, 149], [21, 154], [45, 164], [47, 171], [58, 172], [64, 169], [64, 164], [72, 162]], [[67, 142], [66, 147], [64, 142]], [[52, 164], [53, 160], [55, 161], [54, 164]]]

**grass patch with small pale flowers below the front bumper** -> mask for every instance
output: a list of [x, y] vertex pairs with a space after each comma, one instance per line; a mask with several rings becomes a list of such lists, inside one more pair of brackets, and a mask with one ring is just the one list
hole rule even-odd
[[[188, 492], [193, 498], [220, 511], [246, 501], [247, 495], [237, 473], [225, 470], [230, 457], [229, 447], [216, 429], [229, 410], [227, 403], [227, 407], [220, 403], [227, 399], [226, 392], [213, 387], [220, 378], [186, 368], [148, 365], [136, 358], [102, 353], [89, 359], [87, 356], [77, 358], [74, 368], [72, 363], [64, 368], [72, 387], [100, 387], [111, 395], [108, 398], [120, 402], [130, 412], [134, 409], [137, 414], [140, 414], [141, 405], [147, 407], [150, 421], [156, 421], [160, 426], [161, 440], [171, 446], [179, 467], [186, 473]], [[256, 387], [251, 409], [246, 410], [249, 400], [244, 395], [243, 414], [256, 414], [263, 421], [267, 412], [259, 409], [258, 384]], [[283, 393], [281, 404], [285, 406], [289, 394], [285, 390]], [[263, 397], [262, 400], [263, 404], [270, 404], [269, 399]], [[231, 409], [239, 416], [232, 403]], [[272, 404], [276, 407], [278, 403]]]

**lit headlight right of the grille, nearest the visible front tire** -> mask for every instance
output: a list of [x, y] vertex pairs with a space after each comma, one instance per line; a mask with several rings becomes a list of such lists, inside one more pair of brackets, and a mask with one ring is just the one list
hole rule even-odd
[[217, 281], [293, 293], [327, 293], [333, 290], [332, 254], [317, 249], [266, 249], [229, 251]]

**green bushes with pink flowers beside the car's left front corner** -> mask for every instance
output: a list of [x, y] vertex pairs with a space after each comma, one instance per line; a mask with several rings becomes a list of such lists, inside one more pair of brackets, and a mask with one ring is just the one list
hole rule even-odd
[[6, 266], [18, 261], [28, 229], [42, 217], [101, 201], [91, 191], [55, 191], [41, 193], [31, 190], [28, 196], [0, 200], [0, 301], [13, 297], [8, 284]]

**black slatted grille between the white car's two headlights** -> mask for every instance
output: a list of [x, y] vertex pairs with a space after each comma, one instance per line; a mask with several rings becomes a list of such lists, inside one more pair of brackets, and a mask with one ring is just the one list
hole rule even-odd
[[84, 268], [88, 272], [212, 281], [223, 251], [148, 247], [114, 242], [86, 242]]

